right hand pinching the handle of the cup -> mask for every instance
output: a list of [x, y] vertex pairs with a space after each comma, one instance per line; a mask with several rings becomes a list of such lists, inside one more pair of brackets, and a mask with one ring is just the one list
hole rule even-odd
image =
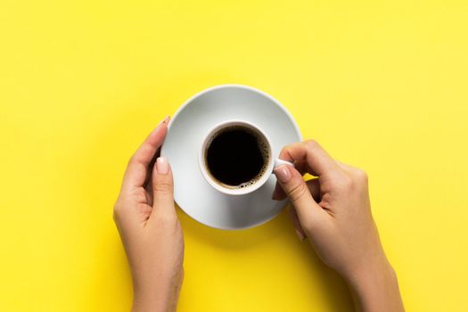
[[[275, 168], [274, 199], [286, 194], [301, 240], [349, 283], [363, 311], [403, 311], [397, 276], [371, 213], [365, 172], [333, 160], [315, 141], [291, 144], [280, 154], [292, 166]], [[318, 178], [304, 182], [302, 175]]]

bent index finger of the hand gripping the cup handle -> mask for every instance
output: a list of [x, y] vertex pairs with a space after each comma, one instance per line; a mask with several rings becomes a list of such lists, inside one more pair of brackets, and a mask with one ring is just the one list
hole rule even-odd
[[305, 161], [308, 173], [316, 177], [328, 177], [341, 169], [336, 161], [314, 140], [284, 147], [279, 158], [289, 161]]

